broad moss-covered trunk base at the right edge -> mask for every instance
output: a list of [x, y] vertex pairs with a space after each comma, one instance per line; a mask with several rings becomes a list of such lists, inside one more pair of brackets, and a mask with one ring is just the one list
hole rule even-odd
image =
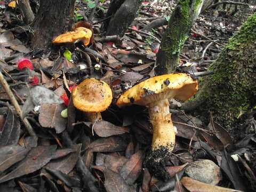
[[215, 120], [235, 137], [256, 105], [255, 42], [256, 13], [229, 39], [196, 98], [203, 103], [201, 109], [213, 111]]

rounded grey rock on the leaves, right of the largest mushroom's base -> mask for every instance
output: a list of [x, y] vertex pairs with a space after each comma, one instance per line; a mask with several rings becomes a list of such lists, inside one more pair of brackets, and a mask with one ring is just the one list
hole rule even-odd
[[208, 159], [201, 159], [194, 162], [196, 165], [190, 165], [185, 170], [185, 173], [192, 179], [208, 183], [211, 185], [217, 185], [222, 179], [220, 167], [213, 161]]

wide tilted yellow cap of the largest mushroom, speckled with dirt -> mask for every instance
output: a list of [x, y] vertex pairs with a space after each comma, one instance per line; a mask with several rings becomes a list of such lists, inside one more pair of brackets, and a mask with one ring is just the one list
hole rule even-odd
[[131, 103], [147, 106], [162, 99], [186, 101], [198, 90], [197, 81], [188, 74], [175, 73], [151, 77], [124, 92], [117, 100], [118, 106]]

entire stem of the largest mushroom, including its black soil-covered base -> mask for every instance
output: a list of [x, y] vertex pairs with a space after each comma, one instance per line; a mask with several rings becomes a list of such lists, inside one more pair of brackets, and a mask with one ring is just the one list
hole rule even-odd
[[151, 174], [164, 180], [170, 179], [165, 165], [171, 156], [175, 144], [175, 131], [167, 99], [151, 103], [149, 118], [153, 125], [151, 149], [147, 154], [145, 165]]

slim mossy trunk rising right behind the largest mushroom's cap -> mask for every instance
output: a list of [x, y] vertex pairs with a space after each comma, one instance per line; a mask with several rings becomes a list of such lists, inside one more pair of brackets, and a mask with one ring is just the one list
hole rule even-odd
[[157, 53], [158, 75], [171, 73], [177, 67], [180, 51], [202, 5], [203, 0], [180, 0], [175, 7]]

